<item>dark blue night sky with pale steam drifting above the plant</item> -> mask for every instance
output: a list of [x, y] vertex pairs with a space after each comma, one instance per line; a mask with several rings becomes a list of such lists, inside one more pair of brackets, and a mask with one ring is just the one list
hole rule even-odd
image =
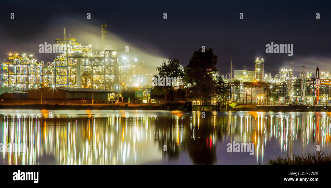
[[[254, 70], [257, 56], [274, 76], [293, 61], [295, 75], [306, 66], [331, 72], [330, 1], [1, 1], [0, 54], [34, 54], [44, 62], [54, 54], [39, 54], [38, 45], [63, 38], [63, 28], [82, 45], [98, 49], [101, 24], [108, 22], [108, 42], [115, 50], [142, 59], [149, 73], [163, 58], [177, 57], [182, 65], [201, 46], [218, 56], [220, 74]], [[10, 14], [15, 13], [15, 19]], [[91, 13], [91, 19], [86, 14]], [[167, 19], [163, 19], [167, 13]], [[244, 13], [244, 19], [239, 14]], [[320, 13], [320, 19], [316, 19]], [[266, 54], [265, 45], [293, 44], [293, 56]], [[132, 47], [132, 48], [131, 48]], [[142, 53], [143, 52], [143, 53]]]

